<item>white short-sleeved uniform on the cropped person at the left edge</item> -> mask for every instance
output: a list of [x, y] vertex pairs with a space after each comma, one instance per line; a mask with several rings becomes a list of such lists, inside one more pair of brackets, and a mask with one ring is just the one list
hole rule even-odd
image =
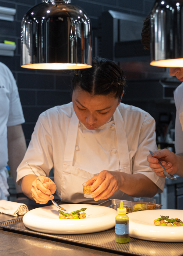
[[[0, 62], [0, 200], [8, 195], [7, 170], [8, 142], [7, 126], [24, 123], [18, 88], [9, 68]], [[4, 191], [4, 192], [3, 192]]]

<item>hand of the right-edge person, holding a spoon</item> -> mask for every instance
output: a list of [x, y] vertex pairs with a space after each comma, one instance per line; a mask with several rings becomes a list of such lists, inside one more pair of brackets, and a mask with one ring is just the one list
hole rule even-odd
[[158, 160], [161, 161], [168, 173], [173, 175], [177, 172], [177, 157], [173, 152], [165, 148], [162, 150], [153, 151], [153, 153], [154, 155], [148, 155], [147, 161], [149, 162], [149, 166], [156, 173], [156, 175], [165, 178], [163, 175], [164, 170], [158, 163]]

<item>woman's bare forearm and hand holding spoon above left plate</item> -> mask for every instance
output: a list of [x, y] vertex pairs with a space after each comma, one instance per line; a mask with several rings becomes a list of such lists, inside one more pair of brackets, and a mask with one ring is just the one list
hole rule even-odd
[[[48, 177], [39, 176], [43, 184], [35, 177], [34, 174], [26, 175], [22, 178], [22, 191], [23, 193], [36, 203], [44, 204], [50, 200], [50, 194], [56, 191], [55, 183]], [[52, 199], [54, 196], [51, 196]]]

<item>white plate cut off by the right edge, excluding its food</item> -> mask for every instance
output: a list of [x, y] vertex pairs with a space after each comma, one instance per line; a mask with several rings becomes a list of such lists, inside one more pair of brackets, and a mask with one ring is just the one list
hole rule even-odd
[[160, 227], [154, 225], [154, 220], [161, 218], [160, 215], [179, 218], [183, 221], [183, 210], [146, 210], [129, 213], [130, 236], [159, 242], [183, 242], [183, 226]]

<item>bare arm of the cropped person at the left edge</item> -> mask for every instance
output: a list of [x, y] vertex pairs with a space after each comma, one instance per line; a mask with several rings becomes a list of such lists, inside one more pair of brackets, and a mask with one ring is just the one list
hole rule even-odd
[[17, 193], [22, 193], [22, 189], [19, 185], [16, 184], [16, 169], [21, 163], [27, 146], [25, 142], [25, 137], [23, 134], [22, 126], [8, 126], [7, 127], [7, 138], [8, 138], [8, 158], [9, 158], [9, 170], [13, 181], [16, 186]]

